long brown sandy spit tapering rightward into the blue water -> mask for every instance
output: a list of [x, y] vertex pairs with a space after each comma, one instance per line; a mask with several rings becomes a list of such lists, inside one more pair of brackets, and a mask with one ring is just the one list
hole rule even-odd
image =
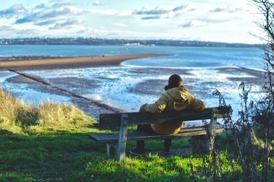
[[88, 68], [95, 66], [116, 66], [125, 60], [169, 55], [170, 54], [95, 55], [83, 57], [0, 57], [0, 70], [48, 70]]

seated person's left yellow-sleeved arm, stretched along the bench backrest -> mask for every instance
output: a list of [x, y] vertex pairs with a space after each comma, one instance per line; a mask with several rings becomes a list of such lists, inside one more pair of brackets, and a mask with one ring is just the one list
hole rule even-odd
[[139, 112], [151, 112], [153, 114], [158, 114], [164, 111], [168, 99], [166, 96], [162, 95], [160, 98], [155, 101], [155, 103], [141, 105]]

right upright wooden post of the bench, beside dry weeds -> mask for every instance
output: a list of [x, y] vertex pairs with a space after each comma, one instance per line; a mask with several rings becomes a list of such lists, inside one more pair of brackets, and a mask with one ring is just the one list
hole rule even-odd
[[208, 148], [209, 148], [210, 153], [214, 150], [214, 138], [215, 138], [218, 114], [219, 114], [218, 109], [212, 109], [210, 126], [208, 127], [208, 131], [210, 134], [209, 135], [210, 138], [208, 140]]

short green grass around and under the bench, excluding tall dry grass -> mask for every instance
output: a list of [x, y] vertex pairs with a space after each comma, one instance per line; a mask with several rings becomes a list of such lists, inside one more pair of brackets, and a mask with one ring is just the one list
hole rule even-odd
[[[98, 132], [102, 131], [79, 126], [59, 131], [45, 128], [37, 133], [2, 129], [0, 181], [190, 181], [189, 159], [195, 168], [201, 166], [201, 158], [194, 155], [148, 155], [117, 162], [108, 159], [105, 144], [93, 142], [86, 135]], [[187, 146], [188, 141], [173, 142], [173, 148], [182, 145]], [[127, 149], [133, 146], [134, 142], [129, 142]], [[162, 149], [162, 141], [147, 142], [147, 148]]]

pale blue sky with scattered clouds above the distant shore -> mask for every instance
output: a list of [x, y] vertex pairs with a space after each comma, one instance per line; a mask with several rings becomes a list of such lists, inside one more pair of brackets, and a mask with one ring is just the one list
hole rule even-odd
[[92, 37], [260, 43], [248, 0], [0, 1], [0, 38]]

